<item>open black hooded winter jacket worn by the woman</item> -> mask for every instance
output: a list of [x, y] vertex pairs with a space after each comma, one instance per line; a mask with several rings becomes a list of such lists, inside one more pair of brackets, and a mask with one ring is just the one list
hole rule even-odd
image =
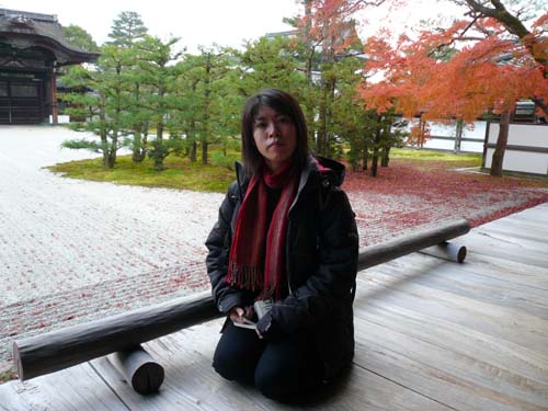
[[[340, 189], [344, 165], [318, 158], [329, 172], [319, 172], [309, 156], [301, 171], [296, 198], [288, 214], [286, 235], [286, 281], [289, 294], [274, 304], [258, 329], [269, 340], [298, 331], [310, 332], [326, 369], [333, 377], [354, 355], [352, 302], [358, 253], [354, 213]], [[253, 304], [249, 292], [225, 281], [236, 217], [247, 181], [237, 167], [233, 182], [209, 233], [206, 264], [213, 297], [220, 311]]]

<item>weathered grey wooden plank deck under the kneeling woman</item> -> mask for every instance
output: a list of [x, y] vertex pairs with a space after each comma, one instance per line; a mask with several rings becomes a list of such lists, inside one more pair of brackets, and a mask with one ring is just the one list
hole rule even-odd
[[359, 273], [354, 365], [313, 403], [218, 377], [216, 320], [146, 344], [165, 367], [158, 395], [99, 358], [0, 386], [0, 410], [548, 410], [548, 203], [457, 241], [460, 265], [414, 253]]

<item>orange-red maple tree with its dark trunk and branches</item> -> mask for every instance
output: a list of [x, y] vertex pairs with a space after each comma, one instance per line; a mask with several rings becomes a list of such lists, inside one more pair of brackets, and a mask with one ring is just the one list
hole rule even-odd
[[[500, 114], [500, 134], [491, 164], [502, 175], [511, 113], [518, 100], [532, 99], [548, 114], [548, 13], [528, 31], [498, 0], [493, 9], [466, 0], [468, 19], [445, 31], [424, 31], [419, 38], [401, 36], [367, 41], [369, 73], [383, 80], [359, 87], [366, 109], [391, 107], [422, 119], [461, 119], [468, 123], [487, 111]], [[475, 9], [477, 7], [477, 9]], [[412, 136], [424, 133], [412, 130]], [[426, 130], [427, 132], [427, 130]]]

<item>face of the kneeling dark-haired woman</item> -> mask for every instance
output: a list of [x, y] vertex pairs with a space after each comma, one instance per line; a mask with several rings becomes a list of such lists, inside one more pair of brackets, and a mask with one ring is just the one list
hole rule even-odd
[[269, 169], [276, 172], [297, 148], [297, 128], [289, 116], [262, 105], [253, 123], [253, 139]]

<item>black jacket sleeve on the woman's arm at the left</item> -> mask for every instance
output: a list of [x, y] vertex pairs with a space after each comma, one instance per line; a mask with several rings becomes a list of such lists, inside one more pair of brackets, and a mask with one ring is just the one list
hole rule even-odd
[[221, 312], [229, 312], [232, 307], [244, 304], [244, 293], [226, 282], [228, 259], [230, 253], [230, 221], [235, 213], [238, 184], [232, 183], [219, 208], [219, 217], [206, 240], [207, 275], [212, 283], [215, 305]]

